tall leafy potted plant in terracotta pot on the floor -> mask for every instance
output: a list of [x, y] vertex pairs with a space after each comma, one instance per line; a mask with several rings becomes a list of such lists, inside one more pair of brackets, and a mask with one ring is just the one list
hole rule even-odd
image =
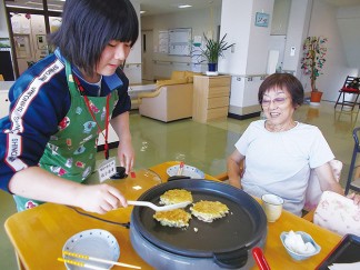
[[303, 57], [301, 69], [304, 74], [310, 76], [311, 81], [311, 102], [320, 102], [322, 92], [317, 88], [317, 79], [321, 73], [327, 56], [328, 39], [323, 37], [308, 37], [303, 42]]

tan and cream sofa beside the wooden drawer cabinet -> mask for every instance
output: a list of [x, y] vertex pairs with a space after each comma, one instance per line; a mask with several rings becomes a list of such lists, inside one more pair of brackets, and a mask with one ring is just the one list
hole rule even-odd
[[169, 80], [158, 80], [157, 90], [139, 94], [139, 114], [162, 122], [192, 117], [192, 71], [172, 71]]

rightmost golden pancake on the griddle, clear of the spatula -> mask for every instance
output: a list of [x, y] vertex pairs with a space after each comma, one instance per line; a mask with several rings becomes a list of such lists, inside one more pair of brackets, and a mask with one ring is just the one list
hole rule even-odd
[[199, 220], [212, 222], [229, 213], [229, 208], [220, 201], [199, 201], [190, 208], [191, 213]]

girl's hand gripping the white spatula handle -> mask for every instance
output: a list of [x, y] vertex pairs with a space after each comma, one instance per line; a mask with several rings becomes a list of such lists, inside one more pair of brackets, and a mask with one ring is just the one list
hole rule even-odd
[[81, 184], [74, 206], [89, 212], [106, 213], [120, 207], [128, 207], [128, 202], [118, 189], [109, 184]]

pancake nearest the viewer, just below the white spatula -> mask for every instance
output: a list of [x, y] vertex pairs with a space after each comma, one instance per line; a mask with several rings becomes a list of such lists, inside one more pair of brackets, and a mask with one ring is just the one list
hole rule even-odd
[[191, 219], [191, 214], [183, 209], [160, 211], [156, 212], [152, 217], [162, 226], [177, 228], [189, 227], [189, 220]]

